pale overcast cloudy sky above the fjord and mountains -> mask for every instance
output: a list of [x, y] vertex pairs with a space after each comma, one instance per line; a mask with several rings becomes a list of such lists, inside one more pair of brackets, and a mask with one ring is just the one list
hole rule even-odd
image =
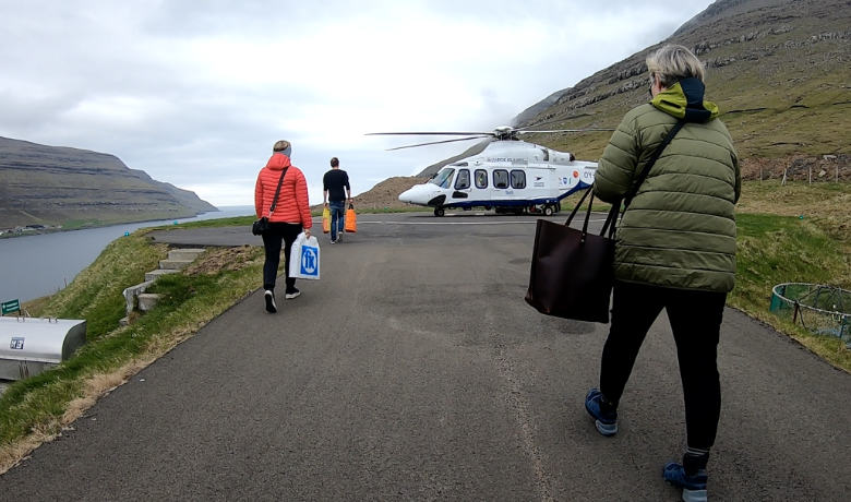
[[[216, 206], [253, 204], [276, 140], [322, 202], [466, 143], [671, 35], [709, 0], [0, 0], [0, 136], [109, 153]], [[407, 143], [406, 143], [407, 142]]]

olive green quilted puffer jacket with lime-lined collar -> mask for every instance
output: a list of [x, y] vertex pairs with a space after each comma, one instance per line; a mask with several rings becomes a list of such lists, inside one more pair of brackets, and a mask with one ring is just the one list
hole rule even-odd
[[686, 79], [621, 121], [603, 151], [595, 194], [615, 202], [678, 120], [666, 147], [623, 215], [615, 241], [615, 278], [670, 288], [730, 291], [735, 275], [734, 204], [739, 160], [704, 85]]

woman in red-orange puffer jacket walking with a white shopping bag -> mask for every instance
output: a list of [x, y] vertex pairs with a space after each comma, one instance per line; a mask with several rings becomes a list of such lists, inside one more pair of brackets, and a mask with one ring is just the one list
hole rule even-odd
[[[308, 182], [301, 169], [293, 166], [290, 160], [292, 146], [288, 141], [278, 141], [272, 148], [266, 166], [260, 170], [257, 182], [254, 186], [254, 211], [257, 218], [268, 217], [269, 229], [263, 234], [263, 248], [266, 251], [266, 261], [263, 264], [263, 289], [266, 301], [266, 311], [277, 312], [275, 304], [275, 279], [278, 275], [280, 263], [280, 244], [284, 241], [284, 271], [287, 276], [286, 299], [292, 299], [301, 295], [296, 288], [296, 278], [289, 276], [289, 252], [298, 235], [303, 230], [310, 237], [310, 228], [313, 220], [310, 216], [310, 202], [308, 201]], [[275, 192], [280, 182], [280, 193], [277, 204]]]

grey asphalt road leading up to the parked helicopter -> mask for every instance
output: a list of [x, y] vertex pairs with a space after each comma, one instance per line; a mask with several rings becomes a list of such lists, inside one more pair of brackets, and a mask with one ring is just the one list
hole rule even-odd
[[[661, 479], [684, 441], [667, 319], [600, 437], [583, 399], [607, 326], [524, 302], [534, 223], [361, 215], [321, 238], [300, 298], [232, 307], [0, 476], [0, 499], [679, 500]], [[849, 500], [851, 375], [731, 309], [719, 364], [710, 498]]]

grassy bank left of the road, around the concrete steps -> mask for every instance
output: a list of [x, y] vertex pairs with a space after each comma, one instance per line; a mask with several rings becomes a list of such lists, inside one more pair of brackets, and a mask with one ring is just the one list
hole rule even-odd
[[0, 396], [0, 473], [61, 433], [95, 399], [125, 381], [256, 289], [259, 247], [205, 251], [183, 273], [159, 278], [156, 309], [120, 326], [123, 288], [144, 279], [167, 247], [139, 230], [112, 241], [95, 262], [49, 299], [27, 303], [36, 316], [86, 320], [86, 344], [68, 361], [15, 382]]

